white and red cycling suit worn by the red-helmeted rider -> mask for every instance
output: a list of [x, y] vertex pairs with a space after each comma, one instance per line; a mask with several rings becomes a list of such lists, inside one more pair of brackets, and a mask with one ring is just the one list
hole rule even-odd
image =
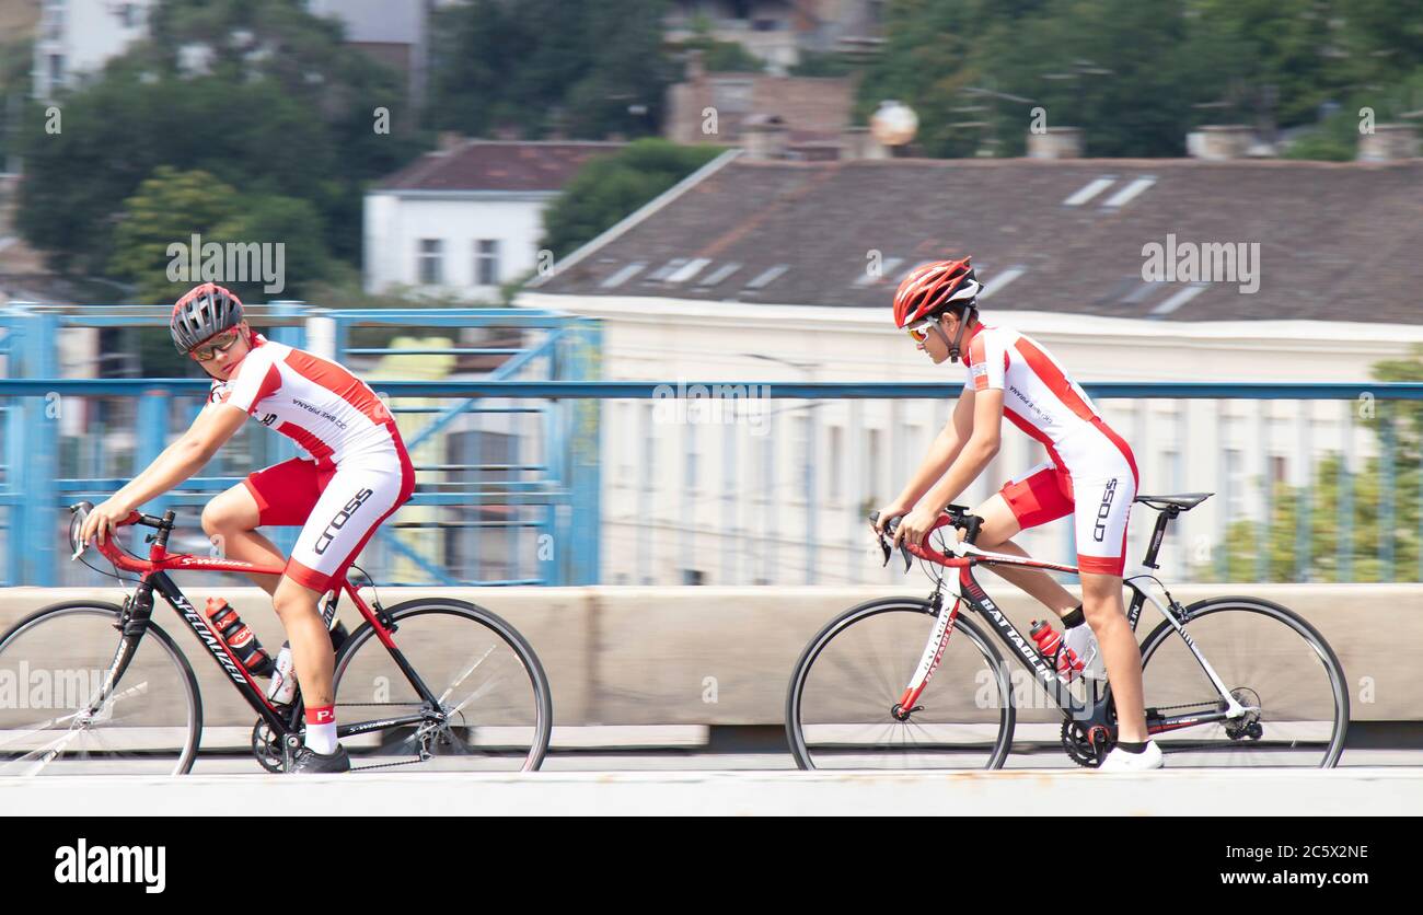
[[1076, 515], [1083, 572], [1121, 575], [1137, 464], [1127, 443], [1052, 354], [1007, 327], [975, 329], [965, 347], [966, 391], [1003, 391], [1003, 416], [1052, 458], [1002, 495], [1023, 529]]

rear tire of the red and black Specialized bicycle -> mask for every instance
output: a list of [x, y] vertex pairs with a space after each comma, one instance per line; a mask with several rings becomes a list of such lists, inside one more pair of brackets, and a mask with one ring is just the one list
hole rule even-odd
[[[544, 666], [538, 660], [538, 655], [534, 653], [532, 646], [528, 640], [505, 619], [491, 613], [490, 610], [468, 603], [465, 601], [455, 601], [451, 598], [416, 598], [413, 601], [406, 601], [387, 610], [388, 616], [396, 622], [397, 628], [403, 622], [408, 622], [414, 618], [427, 616], [431, 613], [445, 613], [455, 618], [462, 618], [484, 626], [487, 630], [492, 632], [504, 645], [512, 649], [514, 656], [518, 659], [519, 666], [528, 675], [529, 683], [534, 690], [534, 716], [532, 734], [529, 740], [528, 753], [524, 757], [519, 771], [536, 771], [544, 763], [544, 757], [548, 753], [549, 737], [554, 727], [554, 697], [552, 690], [548, 683], [548, 676], [544, 673]], [[371, 642], [376, 636], [374, 628], [364, 622], [356, 628], [356, 630], [346, 639], [342, 645], [342, 650], [336, 656], [336, 669], [332, 680], [332, 689], [336, 694], [336, 704], [374, 704], [374, 703], [343, 703], [342, 694], [342, 680], [351, 669], [351, 663], [360, 652], [360, 649]], [[397, 633], [398, 638], [398, 633]], [[380, 655], [376, 657], [388, 659], [390, 655], [386, 652], [384, 646], [376, 640], [374, 646], [380, 649]], [[418, 669], [418, 665], [411, 665], [416, 672], [424, 677], [424, 672]], [[468, 676], [468, 675], [467, 675]], [[427, 683], [428, 684], [428, 683]], [[431, 686], [431, 689], [438, 689]], [[453, 687], [451, 687], [453, 689]], [[396, 704], [413, 704], [413, 703], [396, 703]], [[337, 712], [337, 714], [342, 714]], [[472, 727], [478, 729], [480, 724]], [[353, 757], [359, 756], [359, 750], [353, 753]], [[357, 761], [353, 758], [353, 761]], [[387, 764], [388, 766], [388, 764]]]

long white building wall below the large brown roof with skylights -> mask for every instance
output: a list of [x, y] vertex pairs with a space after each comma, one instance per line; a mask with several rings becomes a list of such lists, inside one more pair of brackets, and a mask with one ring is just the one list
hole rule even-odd
[[[865, 521], [859, 504], [896, 495], [922, 458], [929, 437], [948, 420], [962, 366], [933, 366], [914, 350], [879, 309], [817, 309], [693, 302], [656, 297], [573, 297], [525, 293], [521, 305], [552, 307], [603, 319], [606, 380], [731, 381], [942, 381], [943, 400], [832, 400], [815, 407], [814, 531], [815, 582], [898, 581], [867, 561]], [[1049, 347], [1079, 381], [1368, 381], [1383, 359], [1407, 354], [1423, 343], [1423, 327], [1332, 324], [1319, 322], [1163, 323], [1130, 319], [989, 312], [988, 323], [1012, 326]], [[795, 369], [753, 359], [768, 354]], [[706, 572], [707, 583], [800, 583], [805, 581], [807, 509], [804, 457], [790, 420], [805, 414], [803, 401], [770, 401], [757, 434], [747, 421], [692, 424], [672, 418], [645, 427], [653, 401], [608, 401], [603, 410], [603, 576], [605, 583], [677, 583], [683, 568]], [[1187, 562], [1211, 555], [1227, 519], [1258, 517], [1254, 487], [1268, 455], [1284, 457], [1289, 482], [1299, 485], [1313, 461], [1343, 443], [1345, 414], [1353, 467], [1372, 453], [1369, 420], [1356, 403], [1097, 400], [1099, 408], [1133, 447], [1141, 491], [1170, 494], [1214, 491], [1217, 497], [1183, 517], [1163, 552], [1163, 571], [1184, 578]], [[787, 411], [790, 410], [790, 411]], [[1183, 427], [1178, 411], [1185, 411]], [[858, 420], [855, 418], [858, 416]], [[1261, 423], [1264, 421], [1264, 437]], [[827, 484], [838, 427], [838, 490]], [[766, 428], [763, 424], [761, 428]], [[879, 433], [879, 474], [867, 490], [868, 433]], [[650, 472], [643, 462], [647, 434], [655, 447]], [[770, 502], [757, 488], [760, 443], [774, 441], [777, 485]], [[729, 444], [730, 443], [730, 444]], [[1301, 460], [1308, 443], [1309, 461]], [[727, 448], [734, 451], [729, 454]], [[1242, 467], [1235, 498], [1222, 491], [1227, 450]], [[700, 484], [683, 485], [686, 455], [697, 454]], [[1177, 453], [1178, 478], [1167, 472]], [[727, 460], [730, 457], [730, 460]], [[1003, 451], [969, 488], [975, 504], [1002, 482], [1043, 460], [1040, 448], [1013, 428]], [[1232, 514], [1227, 514], [1234, 505]], [[1326, 507], [1315, 507], [1319, 512]], [[1138, 561], [1154, 512], [1133, 512], [1128, 559]], [[692, 529], [693, 534], [687, 534]], [[726, 531], [731, 531], [726, 535]], [[1035, 555], [1072, 559], [1066, 522], [1027, 532], [1019, 542]], [[1187, 555], [1188, 554], [1188, 555]]]

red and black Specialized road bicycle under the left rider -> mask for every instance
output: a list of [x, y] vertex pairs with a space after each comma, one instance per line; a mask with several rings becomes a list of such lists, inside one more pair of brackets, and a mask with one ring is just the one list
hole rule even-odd
[[[85, 551], [80, 531], [91, 509], [88, 502], [70, 509], [75, 559]], [[155, 593], [172, 605], [256, 712], [250, 736], [243, 730], [239, 741], [268, 771], [286, 770], [305, 730], [300, 684], [289, 704], [269, 702], [169, 576], [178, 571], [280, 575], [282, 568], [171, 554], [174, 517], [134, 512], [120, 525], [157, 531], [147, 536], [152, 544], [147, 559], [124, 551], [114, 536], [98, 545], [115, 566], [114, 576], [135, 585], [121, 606], [68, 601], [31, 613], [0, 636], [0, 776], [192, 768], [203, 733], [202, 697], [188, 659], [152, 619]], [[139, 578], [124, 579], [121, 571]], [[364, 619], [342, 642], [334, 669], [337, 739], [354, 770], [539, 767], [554, 721], [549, 684], [534, 649], [509, 623], [448, 598], [417, 598], [386, 609], [379, 595], [367, 603], [342, 575], [323, 595], [327, 629], [343, 595]], [[7, 676], [17, 686], [9, 693]], [[351, 720], [361, 714], [376, 717]]]

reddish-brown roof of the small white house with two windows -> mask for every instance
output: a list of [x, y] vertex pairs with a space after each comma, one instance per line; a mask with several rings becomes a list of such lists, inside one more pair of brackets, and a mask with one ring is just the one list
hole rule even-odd
[[470, 139], [420, 157], [376, 191], [558, 191], [588, 159], [622, 145]]

